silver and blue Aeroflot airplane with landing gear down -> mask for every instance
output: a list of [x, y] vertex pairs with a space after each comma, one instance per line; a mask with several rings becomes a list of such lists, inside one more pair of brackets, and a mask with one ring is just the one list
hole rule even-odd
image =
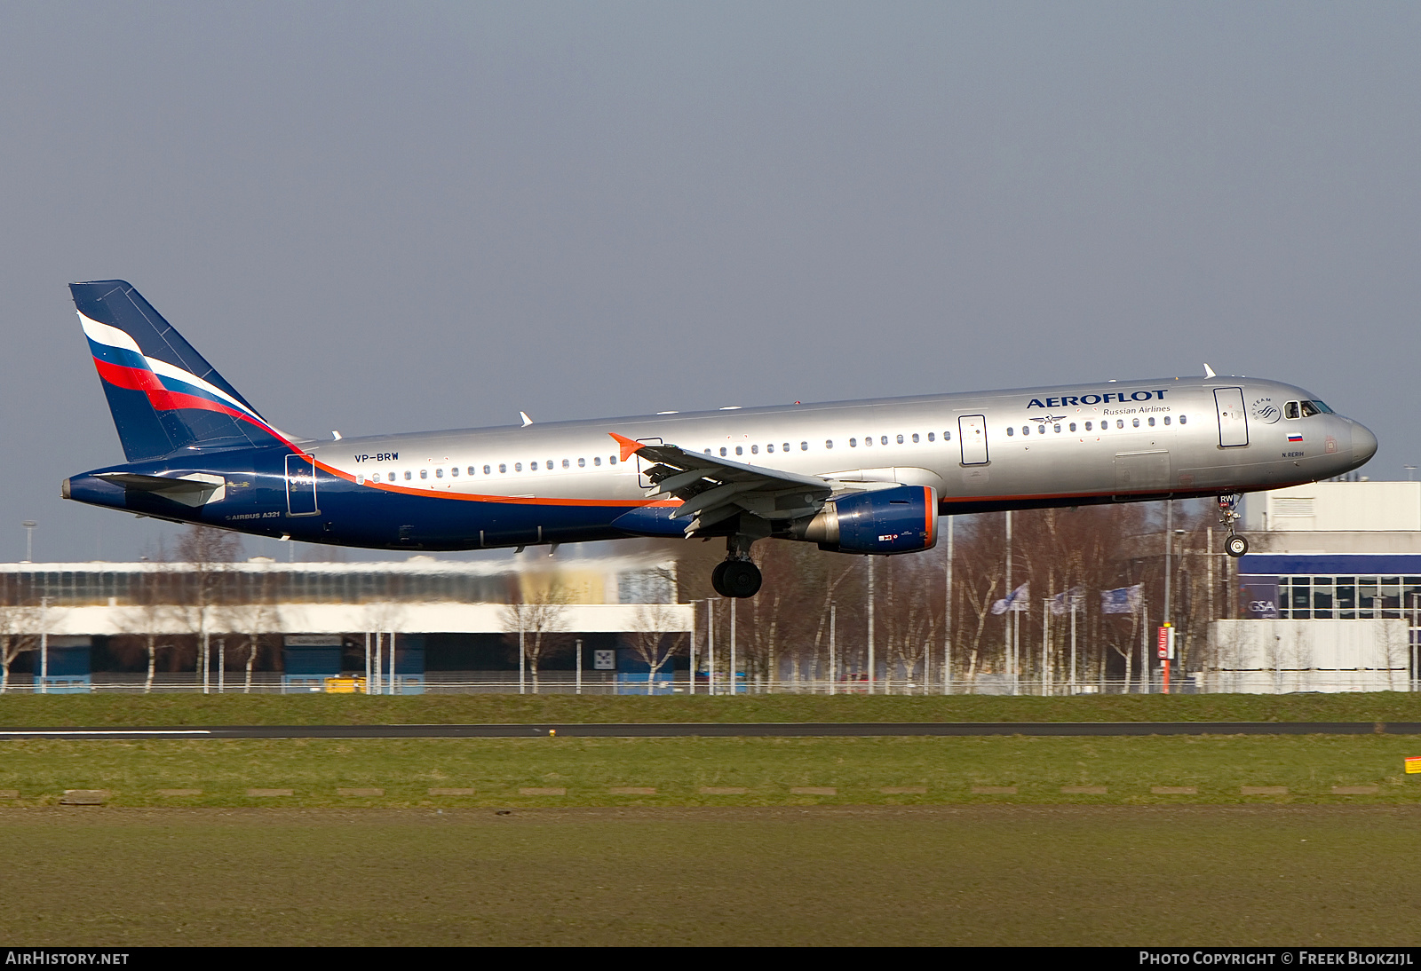
[[1071, 382], [330, 440], [269, 423], [136, 290], [71, 284], [128, 459], [64, 498], [260, 537], [401, 551], [713, 538], [716, 592], [752, 544], [931, 549], [941, 515], [1216, 497], [1340, 476], [1377, 439], [1256, 378]]

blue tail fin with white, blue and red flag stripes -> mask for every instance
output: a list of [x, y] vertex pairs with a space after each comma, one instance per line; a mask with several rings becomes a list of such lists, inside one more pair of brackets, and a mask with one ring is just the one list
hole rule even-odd
[[129, 461], [291, 444], [131, 285], [95, 280], [70, 290]]

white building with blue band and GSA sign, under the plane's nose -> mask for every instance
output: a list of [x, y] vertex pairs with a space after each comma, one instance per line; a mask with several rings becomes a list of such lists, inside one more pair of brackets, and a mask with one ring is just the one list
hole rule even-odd
[[1236, 620], [1211, 626], [1204, 690], [1418, 689], [1421, 483], [1246, 495]]

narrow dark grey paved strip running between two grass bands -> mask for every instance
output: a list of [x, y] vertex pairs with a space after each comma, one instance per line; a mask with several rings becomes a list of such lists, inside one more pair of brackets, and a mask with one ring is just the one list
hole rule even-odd
[[803, 738], [904, 735], [1418, 735], [1421, 721], [817, 721], [537, 725], [0, 728], [4, 738]]

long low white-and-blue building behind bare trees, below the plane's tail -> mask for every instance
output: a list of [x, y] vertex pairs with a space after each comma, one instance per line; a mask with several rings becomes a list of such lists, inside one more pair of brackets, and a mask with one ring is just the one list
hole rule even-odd
[[645, 691], [628, 643], [684, 642], [675, 600], [658, 554], [0, 564], [0, 647], [18, 690]]

